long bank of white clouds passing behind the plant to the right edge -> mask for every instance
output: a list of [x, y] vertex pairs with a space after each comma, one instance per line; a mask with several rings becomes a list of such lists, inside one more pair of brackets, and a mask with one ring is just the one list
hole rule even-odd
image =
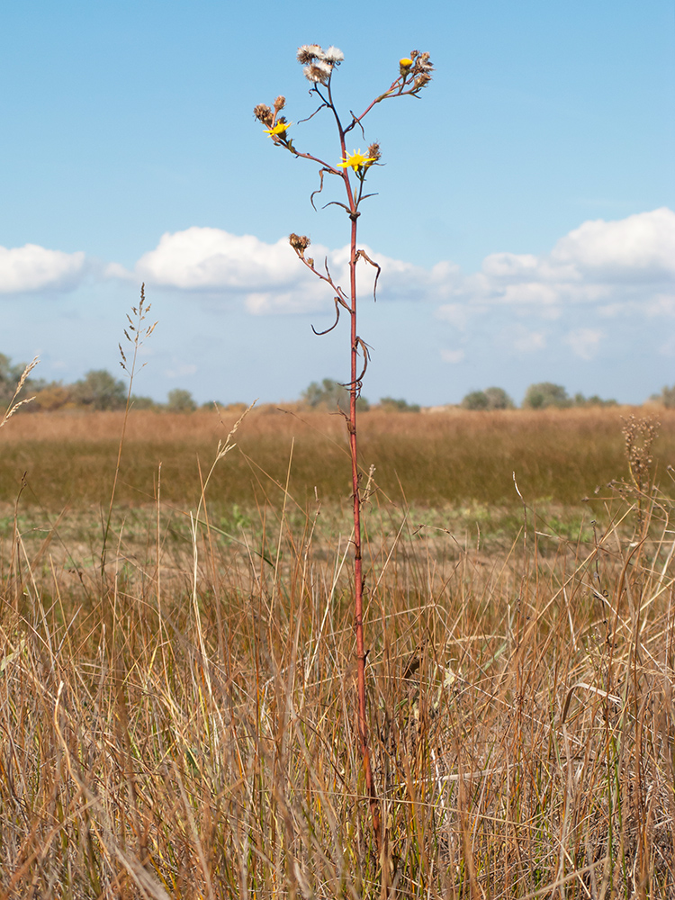
[[[583, 222], [547, 254], [493, 253], [473, 274], [448, 261], [425, 268], [365, 249], [382, 266], [379, 299], [433, 303], [438, 320], [464, 332], [476, 319], [484, 320], [487, 311], [500, 309], [551, 323], [577, 306], [592, 308], [605, 320], [636, 312], [675, 315], [675, 212], [666, 208], [622, 220]], [[336, 283], [348, 284], [348, 247], [312, 245], [308, 256], [319, 268], [326, 259]], [[364, 297], [374, 270], [365, 261], [358, 265]], [[116, 264], [106, 274], [238, 299], [252, 315], [331, 308], [326, 285], [299, 263], [287, 238], [266, 243], [252, 235], [195, 226], [163, 235], [132, 274]], [[524, 353], [541, 349], [545, 334], [531, 328], [527, 336], [512, 336], [511, 346]], [[583, 340], [576, 338], [570, 347], [585, 358], [598, 344], [588, 335]], [[582, 343], [583, 350], [574, 349]]]

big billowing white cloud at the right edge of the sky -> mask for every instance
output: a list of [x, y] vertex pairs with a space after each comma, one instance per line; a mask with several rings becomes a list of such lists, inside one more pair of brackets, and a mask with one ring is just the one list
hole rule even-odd
[[512, 356], [562, 344], [594, 359], [611, 320], [675, 319], [675, 212], [583, 222], [540, 256], [491, 254], [479, 272], [454, 274], [439, 300], [436, 318], [463, 339], [480, 334]]

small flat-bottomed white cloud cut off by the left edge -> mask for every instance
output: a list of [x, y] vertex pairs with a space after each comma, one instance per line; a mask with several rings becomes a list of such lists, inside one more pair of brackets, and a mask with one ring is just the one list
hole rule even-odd
[[84, 274], [85, 254], [62, 253], [37, 244], [0, 247], [0, 293], [68, 291]]

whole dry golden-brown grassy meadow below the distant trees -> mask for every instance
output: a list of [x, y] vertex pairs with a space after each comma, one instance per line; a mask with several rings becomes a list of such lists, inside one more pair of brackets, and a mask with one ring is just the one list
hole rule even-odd
[[345, 423], [239, 415], [130, 413], [104, 554], [123, 414], [0, 430], [0, 898], [675, 897], [675, 413], [360, 417], [380, 854]]

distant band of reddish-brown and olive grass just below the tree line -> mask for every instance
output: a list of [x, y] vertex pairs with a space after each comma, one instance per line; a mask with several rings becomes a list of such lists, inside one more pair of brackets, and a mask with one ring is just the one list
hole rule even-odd
[[[371, 465], [394, 502], [517, 504], [512, 473], [530, 500], [579, 504], [626, 474], [622, 416], [632, 410], [513, 410], [419, 415], [363, 414], [361, 463]], [[117, 487], [121, 503], [153, 502], [162, 463], [166, 501], [194, 506], [199, 467], [238, 414], [131, 413]], [[662, 470], [675, 451], [675, 414], [663, 410], [655, 456]], [[110, 500], [122, 413], [15, 417], [0, 432], [0, 503], [13, 504], [27, 473], [23, 504], [59, 509]], [[339, 416], [292, 410], [253, 412], [228, 467], [214, 474], [211, 498], [223, 507], [256, 506], [284, 483], [293, 444], [293, 496], [349, 501], [344, 423]]]

